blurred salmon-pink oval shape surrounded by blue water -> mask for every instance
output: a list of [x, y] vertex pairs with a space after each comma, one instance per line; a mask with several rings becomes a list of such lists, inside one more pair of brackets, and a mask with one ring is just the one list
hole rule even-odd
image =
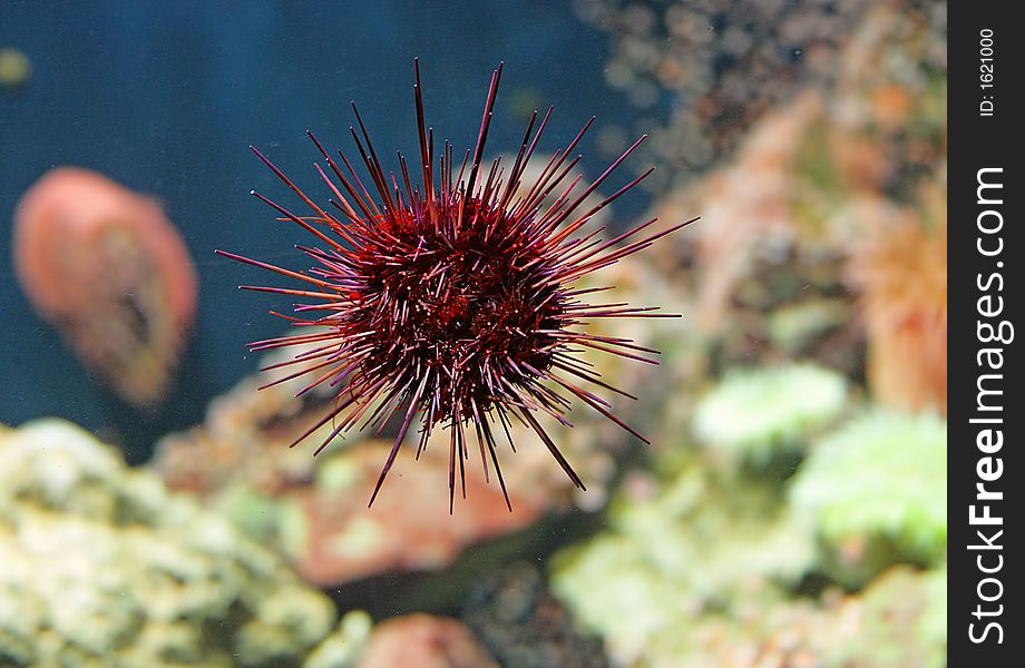
[[33, 307], [125, 400], [159, 403], [196, 310], [196, 273], [153, 199], [79, 167], [18, 203], [14, 268]]

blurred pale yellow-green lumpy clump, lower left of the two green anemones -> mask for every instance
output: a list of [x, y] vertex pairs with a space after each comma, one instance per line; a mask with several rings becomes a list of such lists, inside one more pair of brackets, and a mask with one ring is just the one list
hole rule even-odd
[[700, 462], [650, 498], [621, 493], [609, 523], [556, 556], [551, 586], [629, 665], [687, 656], [697, 639], [682, 629], [697, 616], [732, 618], [755, 598], [779, 602], [814, 554], [774, 484], [736, 489]]

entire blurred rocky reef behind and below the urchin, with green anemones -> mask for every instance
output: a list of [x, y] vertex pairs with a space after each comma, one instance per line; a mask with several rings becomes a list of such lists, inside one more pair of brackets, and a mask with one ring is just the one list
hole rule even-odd
[[574, 410], [549, 433], [582, 491], [514, 422], [512, 512], [469, 459], [450, 515], [448, 434], [407, 439], [368, 509], [394, 421], [287, 446], [339, 390], [276, 383], [315, 342], [139, 470], [0, 431], [0, 665], [944, 664], [946, 4], [575, 8], [644, 109], [599, 149], [652, 132], [651, 215], [702, 216], [574, 285], [683, 316], [588, 324], [662, 351], [583, 357], [652, 445]]

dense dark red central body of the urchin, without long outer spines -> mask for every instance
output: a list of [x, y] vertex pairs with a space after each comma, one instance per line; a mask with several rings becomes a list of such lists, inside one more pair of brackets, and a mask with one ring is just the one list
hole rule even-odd
[[[439, 219], [457, 220], [457, 206], [442, 203]], [[459, 227], [436, 227], [418, 212], [371, 235], [357, 259], [354, 305], [338, 323], [372, 332], [369, 364], [403, 370], [400, 384], [428, 379], [420, 407], [431, 422], [448, 416], [441, 406], [472, 415], [515, 401], [550, 366], [560, 344], [546, 332], [569, 306], [545, 281], [555, 267], [525, 243], [519, 220], [478, 202], [466, 208]]]

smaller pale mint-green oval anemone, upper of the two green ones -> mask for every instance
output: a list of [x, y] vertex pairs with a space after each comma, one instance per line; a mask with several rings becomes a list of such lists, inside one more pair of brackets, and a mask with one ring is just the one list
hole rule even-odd
[[846, 396], [843, 376], [813, 364], [732, 371], [697, 404], [693, 429], [709, 445], [764, 463], [834, 420]]

